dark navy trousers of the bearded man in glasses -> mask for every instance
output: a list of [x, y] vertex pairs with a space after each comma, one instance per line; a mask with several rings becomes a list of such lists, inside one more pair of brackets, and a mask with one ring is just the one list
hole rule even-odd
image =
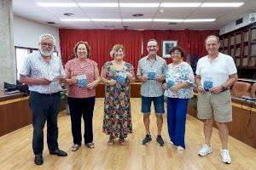
[[44, 150], [44, 124], [47, 121], [47, 144], [50, 152], [58, 149], [57, 116], [61, 106], [61, 94], [30, 93], [32, 109], [33, 139], [32, 148], [35, 155]]

